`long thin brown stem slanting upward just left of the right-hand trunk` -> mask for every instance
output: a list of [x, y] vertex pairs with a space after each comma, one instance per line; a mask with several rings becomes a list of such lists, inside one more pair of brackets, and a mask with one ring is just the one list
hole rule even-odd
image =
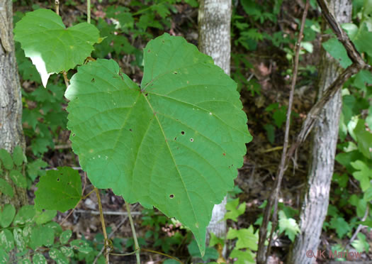
[[[287, 155], [287, 148], [288, 148], [288, 138], [289, 138], [289, 128], [291, 126], [291, 112], [292, 112], [292, 104], [293, 104], [293, 94], [295, 92], [295, 83], [297, 81], [297, 74], [298, 74], [298, 60], [300, 57], [300, 49], [301, 49], [301, 40], [303, 39], [303, 29], [305, 27], [305, 20], [306, 16], [308, 15], [308, 9], [309, 9], [309, 0], [306, 1], [305, 9], [303, 11], [303, 18], [301, 21], [300, 26], [300, 32], [298, 33], [298, 40], [295, 45], [295, 61], [293, 64], [293, 78], [291, 83], [291, 92], [289, 93], [289, 101], [288, 101], [288, 109], [287, 109], [287, 119], [286, 119], [286, 131], [284, 134], [284, 143], [283, 143], [283, 152], [281, 155], [281, 163], [278, 167], [278, 172], [275, 180], [274, 185], [274, 194], [271, 195], [269, 198], [269, 201], [266, 205], [266, 209], [264, 212], [264, 220], [262, 221], [261, 228], [259, 229], [259, 253], [257, 253], [257, 263], [267, 263], [270, 250], [271, 250], [271, 244], [272, 244], [272, 238], [273, 233], [276, 228], [276, 221], [278, 216], [278, 195], [279, 191], [281, 189], [281, 182], [283, 180], [283, 175], [286, 170], [286, 155]], [[266, 234], [267, 234], [267, 227], [269, 226], [269, 220], [271, 216], [271, 208], [274, 205], [274, 211], [272, 216], [272, 228], [269, 238], [269, 246], [267, 248], [266, 254], [265, 252], [265, 241], [266, 241]]]

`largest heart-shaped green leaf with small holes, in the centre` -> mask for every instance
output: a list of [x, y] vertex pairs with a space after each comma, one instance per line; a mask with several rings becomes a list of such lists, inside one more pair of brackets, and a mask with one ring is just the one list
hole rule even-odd
[[65, 93], [72, 148], [94, 186], [176, 217], [204, 253], [252, 139], [247, 116], [236, 83], [184, 38], [150, 41], [144, 59], [140, 87], [113, 60], [78, 68]]

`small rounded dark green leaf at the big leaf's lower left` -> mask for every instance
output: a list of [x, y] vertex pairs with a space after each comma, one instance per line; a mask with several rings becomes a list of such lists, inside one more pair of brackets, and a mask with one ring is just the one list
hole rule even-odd
[[48, 170], [36, 185], [35, 207], [67, 211], [74, 208], [81, 199], [81, 177], [71, 167]]

